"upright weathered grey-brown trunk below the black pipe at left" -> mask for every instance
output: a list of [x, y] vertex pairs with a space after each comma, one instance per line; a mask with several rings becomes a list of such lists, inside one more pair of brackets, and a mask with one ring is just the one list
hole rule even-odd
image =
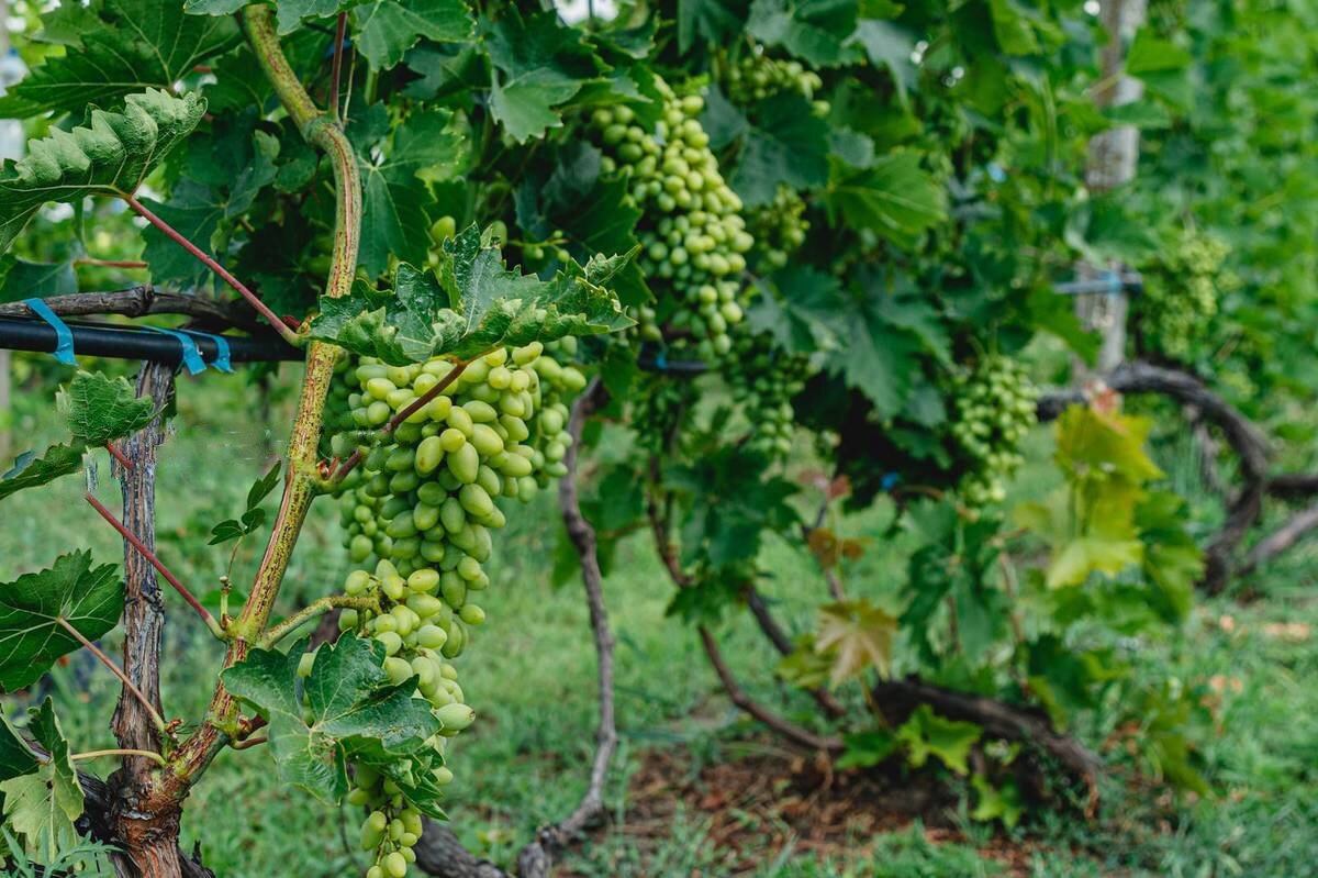
[[[137, 377], [137, 395], [150, 398], [163, 409], [174, 389], [171, 366], [145, 363]], [[156, 548], [156, 451], [165, 440], [165, 419], [120, 443], [130, 467], [115, 465], [124, 497], [124, 526], [148, 548]], [[159, 697], [161, 633], [165, 602], [156, 570], [124, 541], [124, 672], [163, 715]], [[119, 746], [161, 750], [159, 733], [146, 708], [127, 689], [111, 720]], [[125, 757], [123, 767], [109, 778], [109, 823], [115, 842], [123, 849], [116, 857], [121, 877], [177, 878], [183, 874], [178, 849], [179, 804], [157, 791], [156, 762]]]

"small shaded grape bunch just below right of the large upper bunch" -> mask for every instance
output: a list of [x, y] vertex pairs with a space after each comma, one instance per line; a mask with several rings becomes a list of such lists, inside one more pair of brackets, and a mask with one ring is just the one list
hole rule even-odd
[[747, 447], [770, 459], [787, 456], [796, 424], [792, 397], [805, 388], [809, 359], [779, 349], [768, 334], [739, 332], [722, 376], [751, 423]]

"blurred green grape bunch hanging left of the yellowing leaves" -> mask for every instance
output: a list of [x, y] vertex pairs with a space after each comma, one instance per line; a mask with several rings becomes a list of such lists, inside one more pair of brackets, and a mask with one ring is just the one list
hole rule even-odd
[[953, 382], [952, 435], [969, 469], [961, 480], [967, 504], [983, 506], [1007, 497], [1007, 479], [1020, 468], [1020, 442], [1036, 423], [1039, 392], [1010, 357], [990, 356]]

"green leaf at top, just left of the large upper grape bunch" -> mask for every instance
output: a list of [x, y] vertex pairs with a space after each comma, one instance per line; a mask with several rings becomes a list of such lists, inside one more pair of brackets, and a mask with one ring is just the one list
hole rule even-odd
[[563, 104], [605, 69], [583, 33], [552, 9], [523, 18], [510, 8], [489, 28], [485, 47], [494, 65], [490, 112], [518, 142], [560, 128]]

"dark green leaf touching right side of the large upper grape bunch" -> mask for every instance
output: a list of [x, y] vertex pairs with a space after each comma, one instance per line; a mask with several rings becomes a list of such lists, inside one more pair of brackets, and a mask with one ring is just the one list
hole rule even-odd
[[747, 207], [774, 200], [779, 185], [828, 183], [829, 125], [805, 98], [783, 92], [759, 102], [746, 131], [731, 187]]

